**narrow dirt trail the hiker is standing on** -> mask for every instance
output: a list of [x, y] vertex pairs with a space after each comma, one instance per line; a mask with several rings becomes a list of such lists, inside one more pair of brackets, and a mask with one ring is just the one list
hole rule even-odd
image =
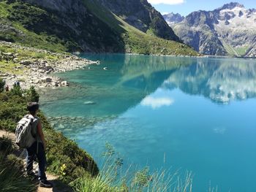
[[[0, 137], [3, 136], [10, 137], [12, 139], [12, 142], [15, 142], [15, 134], [0, 130]], [[23, 160], [25, 161], [25, 155], [20, 155], [20, 157], [23, 158]], [[34, 164], [34, 170], [37, 169], [37, 167], [38, 165]], [[37, 192], [72, 192], [72, 188], [64, 183], [61, 183], [61, 180], [59, 180], [58, 177], [56, 177], [55, 175], [46, 172], [46, 177], [51, 183], [53, 183], [53, 188], [41, 188], [38, 186]]]

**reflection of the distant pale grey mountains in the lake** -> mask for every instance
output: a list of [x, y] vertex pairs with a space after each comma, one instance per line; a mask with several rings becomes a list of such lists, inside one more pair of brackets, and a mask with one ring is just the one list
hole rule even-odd
[[163, 87], [203, 95], [220, 104], [254, 98], [256, 63], [241, 59], [199, 59], [197, 64], [181, 67], [170, 74]]

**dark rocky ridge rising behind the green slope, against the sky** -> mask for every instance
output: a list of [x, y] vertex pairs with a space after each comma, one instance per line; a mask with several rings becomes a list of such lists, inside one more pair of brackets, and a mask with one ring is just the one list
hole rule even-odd
[[129, 25], [163, 39], [180, 42], [162, 15], [146, 0], [98, 0]]

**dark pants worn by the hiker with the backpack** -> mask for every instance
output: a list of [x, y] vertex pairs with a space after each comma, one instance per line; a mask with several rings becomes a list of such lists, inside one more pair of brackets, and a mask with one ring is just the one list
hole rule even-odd
[[33, 172], [33, 161], [34, 161], [34, 157], [37, 156], [37, 160], [39, 163], [38, 179], [46, 180], [46, 176], [45, 176], [46, 158], [45, 158], [45, 150], [42, 145], [42, 142], [38, 142], [38, 149], [37, 149], [37, 142], [34, 142], [33, 145], [31, 145], [31, 147], [26, 149], [26, 151], [27, 151], [26, 172], [28, 174], [31, 174], [31, 172]]

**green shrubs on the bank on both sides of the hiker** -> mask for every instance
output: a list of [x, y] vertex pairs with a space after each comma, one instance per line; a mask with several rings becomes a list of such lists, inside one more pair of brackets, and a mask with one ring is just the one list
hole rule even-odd
[[[9, 92], [0, 93], [0, 130], [14, 132], [18, 120], [27, 114], [26, 102], [38, 101], [38, 99], [39, 96], [34, 88], [24, 91], [14, 87]], [[46, 149], [48, 171], [58, 174], [67, 183], [81, 175], [94, 176], [99, 173], [91, 155], [81, 150], [74, 141], [54, 131], [42, 112], [39, 112], [39, 118], [42, 120], [48, 143]], [[64, 166], [64, 169], [61, 169], [61, 166]]]

